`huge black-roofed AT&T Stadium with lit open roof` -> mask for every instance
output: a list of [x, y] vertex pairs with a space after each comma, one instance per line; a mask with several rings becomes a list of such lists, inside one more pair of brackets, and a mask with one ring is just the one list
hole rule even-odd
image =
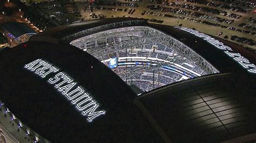
[[1, 118], [21, 128], [2, 121], [5, 140], [256, 140], [256, 59], [232, 42], [114, 18], [46, 30], [0, 54]]

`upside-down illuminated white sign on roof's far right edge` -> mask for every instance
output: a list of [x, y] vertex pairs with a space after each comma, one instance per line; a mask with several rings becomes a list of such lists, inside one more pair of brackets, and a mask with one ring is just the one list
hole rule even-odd
[[249, 71], [251, 73], [256, 73], [256, 66], [253, 63], [251, 63], [248, 59], [244, 58], [244, 56], [242, 56], [241, 54], [234, 52], [232, 50], [232, 48], [224, 45], [223, 42], [220, 42], [219, 40], [216, 40], [204, 33], [200, 33], [198, 31], [192, 30], [190, 28], [177, 27], [177, 26], [176, 26], [176, 28], [179, 28], [181, 30], [184, 30], [186, 32], [194, 34], [197, 37], [203, 38], [204, 40], [206, 40], [213, 46], [223, 50], [228, 56], [232, 57], [235, 61], [237, 61], [242, 67], [246, 68], [247, 71]]

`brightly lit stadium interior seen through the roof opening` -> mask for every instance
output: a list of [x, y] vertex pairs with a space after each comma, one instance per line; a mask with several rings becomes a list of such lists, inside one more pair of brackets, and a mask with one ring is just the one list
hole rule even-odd
[[127, 84], [150, 91], [197, 76], [219, 73], [182, 42], [154, 28], [106, 30], [70, 42], [111, 68]]

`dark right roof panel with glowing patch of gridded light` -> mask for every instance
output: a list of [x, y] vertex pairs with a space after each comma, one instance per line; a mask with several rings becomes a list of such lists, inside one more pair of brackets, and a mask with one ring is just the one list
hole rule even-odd
[[147, 92], [138, 102], [173, 142], [221, 142], [247, 134], [247, 141], [253, 141], [253, 81], [252, 75], [206, 75]]

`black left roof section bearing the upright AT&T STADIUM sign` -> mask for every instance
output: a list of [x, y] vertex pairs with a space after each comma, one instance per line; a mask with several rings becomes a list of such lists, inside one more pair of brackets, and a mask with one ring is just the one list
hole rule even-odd
[[149, 142], [140, 135], [156, 134], [137, 116], [136, 94], [90, 54], [66, 43], [31, 41], [2, 52], [1, 101], [49, 141]]

